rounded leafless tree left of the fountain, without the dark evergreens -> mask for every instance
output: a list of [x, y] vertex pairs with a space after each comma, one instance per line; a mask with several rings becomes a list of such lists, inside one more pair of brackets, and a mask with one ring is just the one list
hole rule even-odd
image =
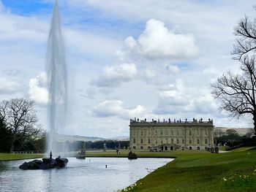
[[11, 99], [1, 101], [0, 118], [6, 123], [7, 129], [12, 133], [12, 145], [10, 150], [15, 149], [15, 144], [24, 149], [27, 139], [36, 138], [41, 128], [37, 125], [35, 103], [31, 99]]

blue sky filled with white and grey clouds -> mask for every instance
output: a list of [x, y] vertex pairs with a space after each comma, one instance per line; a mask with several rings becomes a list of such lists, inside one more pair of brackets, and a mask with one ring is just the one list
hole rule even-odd
[[[129, 136], [130, 118], [212, 118], [211, 83], [238, 72], [233, 28], [255, 1], [63, 0], [61, 24], [69, 82], [61, 134]], [[53, 0], [0, 0], [0, 99], [31, 98], [47, 129], [46, 48]]]

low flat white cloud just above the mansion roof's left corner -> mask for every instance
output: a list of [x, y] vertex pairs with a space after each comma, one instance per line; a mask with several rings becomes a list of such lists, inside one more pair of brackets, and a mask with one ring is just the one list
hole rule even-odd
[[145, 108], [138, 105], [135, 108], [124, 108], [124, 102], [120, 100], [105, 100], [94, 107], [93, 112], [99, 117], [118, 116], [120, 118], [129, 119], [140, 116], [145, 113]]

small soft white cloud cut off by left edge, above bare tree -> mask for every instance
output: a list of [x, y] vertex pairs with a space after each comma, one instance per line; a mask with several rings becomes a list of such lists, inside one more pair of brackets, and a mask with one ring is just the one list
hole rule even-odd
[[16, 93], [20, 90], [18, 82], [0, 77], [0, 93]]

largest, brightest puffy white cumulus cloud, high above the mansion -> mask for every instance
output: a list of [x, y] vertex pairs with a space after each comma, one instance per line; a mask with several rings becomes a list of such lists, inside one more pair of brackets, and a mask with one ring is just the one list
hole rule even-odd
[[193, 58], [198, 53], [195, 39], [188, 34], [175, 34], [160, 20], [148, 20], [138, 38], [138, 50], [147, 58]]

